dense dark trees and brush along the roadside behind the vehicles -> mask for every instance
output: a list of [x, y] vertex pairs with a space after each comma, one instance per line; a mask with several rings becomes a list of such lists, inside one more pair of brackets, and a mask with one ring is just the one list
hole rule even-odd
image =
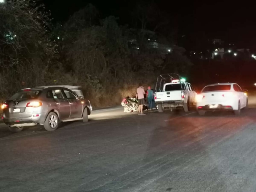
[[159, 73], [186, 74], [192, 64], [184, 48], [147, 30], [150, 22], [155, 30], [166, 22], [147, 20], [158, 17], [141, 9], [134, 28], [113, 16], [100, 20], [91, 4], [52, 27], [44, 7], [31, 0], [0, 4], [1, 99], [22, 87], [71, 84], [82, 85], [94, 106], [110, 106], [133, 96], [139, 82], [153, 86]]

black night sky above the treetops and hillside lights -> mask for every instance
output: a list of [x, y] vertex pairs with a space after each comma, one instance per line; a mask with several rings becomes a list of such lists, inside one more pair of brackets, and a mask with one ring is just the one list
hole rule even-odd
[[[138, 0], [137, 0], [138, 1]], [[52, 11], [54, 20], [62, 21], [75, 11], [92, 3], [102, 17], [114, 15], [120, 24], [130, 22], [136, 0], [42, 0]], [[159, 8], [175, 20], [179, 34], [193, 44], [202, 36], [222, 38], [238, 47], [256, 47], [256, 2], [249, 1], [155, 1]]]

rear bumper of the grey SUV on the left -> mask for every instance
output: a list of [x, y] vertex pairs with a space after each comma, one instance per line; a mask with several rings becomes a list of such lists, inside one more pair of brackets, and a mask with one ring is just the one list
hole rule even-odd
[[3, 121], [8, 126], [34, 126], [36, 124], [44, 123], [45, 119], [46, 113], [37, 113], [27, 118], [4, 118]]

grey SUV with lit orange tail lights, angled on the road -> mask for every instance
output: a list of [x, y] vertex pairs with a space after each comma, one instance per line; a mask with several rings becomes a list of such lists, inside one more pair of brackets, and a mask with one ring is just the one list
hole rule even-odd
[[6, 100], [2, 109], [4, 123], [12, 132], [20, 132], [24, 126], [36, 124], [43, 125], [47, 131], [54, 131], [60, 122], [80, 119], [88, 122], [88, 115], [92, 112], [90, 101], [83, 98], [78, 86], [22, 89]]

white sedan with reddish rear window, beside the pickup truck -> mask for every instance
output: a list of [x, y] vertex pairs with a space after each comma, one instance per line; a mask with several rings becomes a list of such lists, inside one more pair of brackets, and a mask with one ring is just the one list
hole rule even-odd
[[242, 108], [248, 107], [247, 90], [236, 83], [218, 83], [205, 86], [196, 96], [196, 108], [199, 115], [206, 111], [233, 110], [236, 115]]

